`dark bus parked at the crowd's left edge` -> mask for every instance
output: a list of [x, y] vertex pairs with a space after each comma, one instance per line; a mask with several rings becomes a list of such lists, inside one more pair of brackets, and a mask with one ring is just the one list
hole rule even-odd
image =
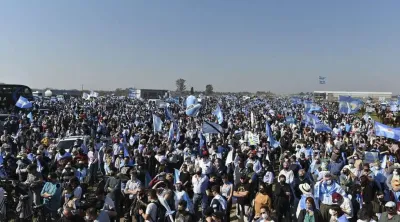
[[0, 84], [0, 108], [14, 107], [19, 97], [33, 101], [31, 88], [25, 85]]

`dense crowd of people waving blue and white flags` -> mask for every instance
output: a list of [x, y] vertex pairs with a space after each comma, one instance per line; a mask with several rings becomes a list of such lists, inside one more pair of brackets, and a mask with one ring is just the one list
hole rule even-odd
[[4, 109], [0, 219], [400, 221], [399, 141], [376, 136], [368, 115], [314, 102], [310, 113], [291, 98], [235, 96], [201, 97], [194, 115], [184, 98]]

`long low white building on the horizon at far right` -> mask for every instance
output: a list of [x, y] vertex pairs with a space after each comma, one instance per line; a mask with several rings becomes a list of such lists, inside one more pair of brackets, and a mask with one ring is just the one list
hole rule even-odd
[[392, 98], [392, 94], [392, 92], [314, 91], [314, 98], [338, 100], [339, 96], [351, 96], [360, 99], [389, 100]]

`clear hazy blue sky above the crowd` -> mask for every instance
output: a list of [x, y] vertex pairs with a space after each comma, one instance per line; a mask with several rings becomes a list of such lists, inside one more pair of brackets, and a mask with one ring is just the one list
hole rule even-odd
[[396, 0], [0, 4], [0, 82], [175, 90], [183, 78], [196, 91], [400, 92]]

